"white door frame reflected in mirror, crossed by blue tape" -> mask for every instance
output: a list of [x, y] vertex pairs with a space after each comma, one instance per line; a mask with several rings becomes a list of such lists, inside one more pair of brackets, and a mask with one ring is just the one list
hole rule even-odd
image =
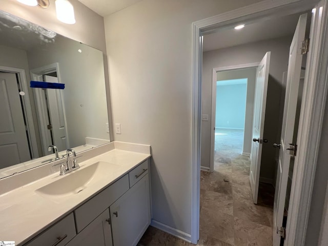
[[[58, 79], [58, 83], [61, 83], [61, 77], [60, 77], [60, 69], [59, 69], [59, 63], [52, 63], [46, 66], [42, 66], [39, 68], [35, 68], [32, 69], [30, 71], [31, 73], [31, 78], [34, 80], [38, 80], [40, 81], [40, 79], [42, 79], [42, 76], [44, 74], [47, 73], [52, 73], [52, 72], [56, 72], [57, 73], [57, 79]], [[61, 98], [63, 97], [63, 93], [62, 91], [60, 91], [61, 93]], [[41, 127], [41, 126], [46, 126], [46, 119], [48, 118], [48, 116], [44, 115], [44, 108], [46, 108], [47, 106], [44, 105], [44, 102], [42, 100], [42, 96], [40, 94], [39, 91], [34, 91], [34, 95], [35, 95], [35, 103], [38, 105], [36, 106], [36, 112], [37, 112], [37, 120], [39, 122], [39, 131], [40, 131], [40, 138], [41, 138], [41, 142], [42, 142], [42, 150], [44, 153], [44, 155], [46, 155], [47, 150], [48, 150], [48, 145], [46, 144], [48, 142], [48, 132], [45, 128]], [[67, 146], [70, 146], [69, 144], [69, 137], [68, 137], [68, 129], [67, 129], [67, 120], [66, 120], [66, 112], [65, 112], [65, 107], [63, 107], [63, 111], [64, 111], [64, 122], [65, 122], [65, 131], [66, 131], [66, 142], [67, 142]]]

